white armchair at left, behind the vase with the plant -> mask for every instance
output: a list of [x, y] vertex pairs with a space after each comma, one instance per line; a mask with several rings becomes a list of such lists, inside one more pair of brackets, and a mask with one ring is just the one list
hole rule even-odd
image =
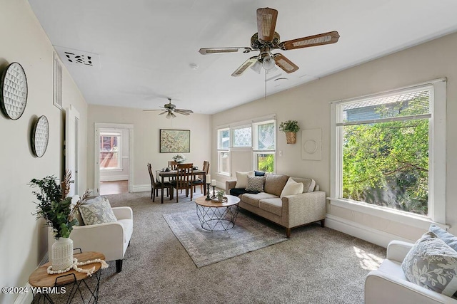
[[[72, 200], [76, 203], [79, 197]], [[133, 212], [130, 207], [112, 208], [117, 221], [114, 223], [74, 226], [70, 239], [74, 248], [81, 251], [97, 251], [105, 255], [106, 261], [116, 261], [116, 272], [122, 270], [122, 260], [130, 245], [134, 228]], [[51, 252], [55, 239], [52, 229], [49, 229], [48, 252]]]

